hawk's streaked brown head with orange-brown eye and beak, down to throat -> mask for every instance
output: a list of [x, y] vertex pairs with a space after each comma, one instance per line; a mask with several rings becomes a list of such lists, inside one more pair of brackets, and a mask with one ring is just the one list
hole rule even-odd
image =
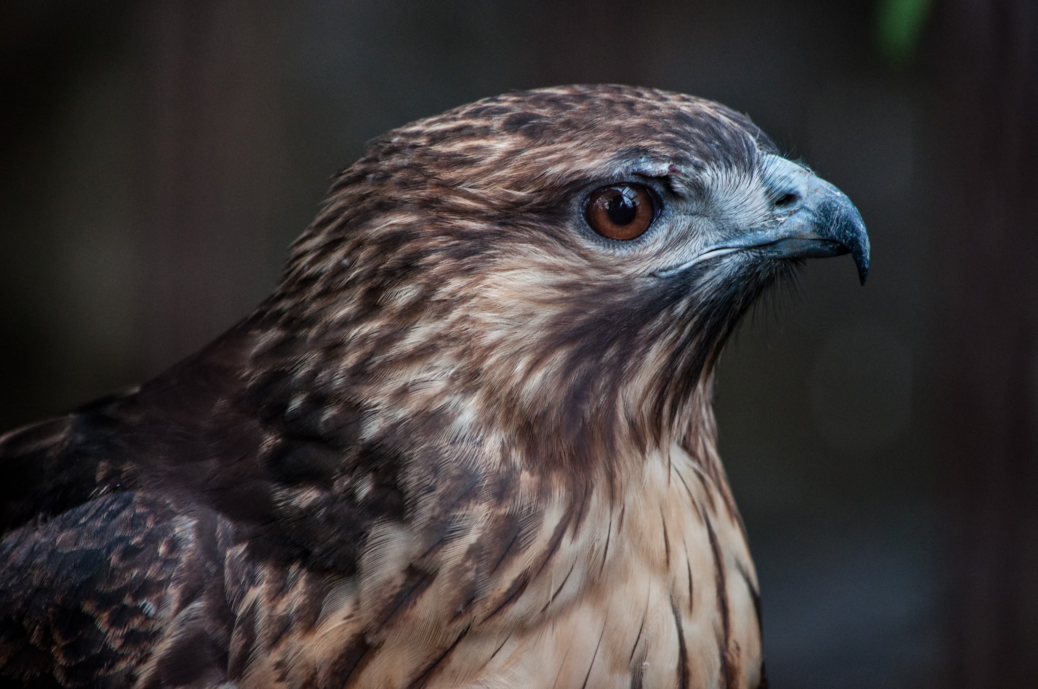
[[744, 115], [565, 86], [374, 140], [263, 311], [313, 353], [296, 389], [349, 401], [363, 439], [573, 468], [712, 423], [740, 316], [800, 259], [847, 252], [864, 282], [857, 211]]

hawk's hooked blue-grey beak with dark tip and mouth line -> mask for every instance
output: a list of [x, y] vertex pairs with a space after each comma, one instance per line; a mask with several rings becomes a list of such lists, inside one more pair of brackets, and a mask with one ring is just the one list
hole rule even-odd
[[769, 186], [788, 209], [776, 225], [754, 230], [714, 245], [692, 260], [658, 276], [674, 274], [716, 256], [753, 249], [759, 255], [778, 258], [824, 258], [851, 254], [857, 276], [865, 284], [869, 274], [869, 236], [862, 214], [847, 195], [807, 168], [780, 156], [763, 161]]

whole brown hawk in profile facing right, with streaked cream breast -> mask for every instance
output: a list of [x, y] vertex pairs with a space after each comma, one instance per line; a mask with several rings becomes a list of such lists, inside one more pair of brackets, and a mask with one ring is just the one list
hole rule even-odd
[[844, 194], [688, 95], [375, 139], [251, 315], [0, 438], [2, 685], [764, 686], [713, 371], [847, 252]]

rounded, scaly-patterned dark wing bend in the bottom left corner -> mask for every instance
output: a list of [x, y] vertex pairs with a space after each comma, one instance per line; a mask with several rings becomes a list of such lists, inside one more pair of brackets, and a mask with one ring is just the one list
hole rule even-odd
[[117, 492], [0, 542], [4, 686], [121, 687], [162, 632], [185, 556], [173, 516]]

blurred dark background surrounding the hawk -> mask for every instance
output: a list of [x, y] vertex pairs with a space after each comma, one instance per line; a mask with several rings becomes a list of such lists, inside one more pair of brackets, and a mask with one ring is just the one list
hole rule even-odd
[[868, 286], [812, 263], [721, 366], [772, 686], [1038, 687], [1036, 55], [1021, 0], [7, 0], [0, 431], [246, 314], [389, 128], [559, 83], [694, 93], [873, 243]]

